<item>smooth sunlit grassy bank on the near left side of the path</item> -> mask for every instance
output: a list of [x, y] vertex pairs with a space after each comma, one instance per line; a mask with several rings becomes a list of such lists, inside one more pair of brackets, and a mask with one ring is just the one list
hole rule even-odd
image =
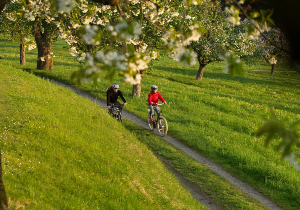
[[15, 66], [10, 59], [0, 63], [0, 147], [10, 206], [203, 208], [104, 109]]

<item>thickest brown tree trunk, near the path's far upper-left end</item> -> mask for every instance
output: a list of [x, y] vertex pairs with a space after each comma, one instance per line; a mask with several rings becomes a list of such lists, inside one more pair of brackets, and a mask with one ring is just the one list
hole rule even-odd
[[[51, 55], [51, 35], [45, 29], [44, 33], [36, 31], [34, 34], [35, 42], [38, 47], [38, 63], [37, 69], [53, 71], [53, 60]], [[41, 57], [45, 60], [42, 61]]]

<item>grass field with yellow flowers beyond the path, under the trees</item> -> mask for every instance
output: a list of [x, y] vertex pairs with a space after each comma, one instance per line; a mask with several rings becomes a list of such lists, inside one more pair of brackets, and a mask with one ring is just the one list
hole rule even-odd
[[[7, 68], [18, 68], [16, 46], [11, 44], [10, 49], [6, 45], [4, 53], [0, 52], [8, 58]], [[79, 65], [66, 53], [64, 46], [63, 42], [54, 45], [54, 53], [58, 52], [60, 57], [54, 61], [53, 73], [34, 70], [34, 52], [27, 53], [26, 68], [40, 76], [74, 84], [69, 76]], [[222, 62], [208, 65], [203, 81], [199, 82], [195, 81], [197, 66], [183, 67], [168, 58], [161, 59], [152, 70], [146, 71], [140, 98], [131, 97], [130, 84], [121, 85], [117, 77], [114, 82], [120, 83], [120, 90], [128, 101], [125, 108], [144, 119], [149, 87], [157, 85], [168, 101], [162, 112], [168, 120], [170, 135], [223, 165], [284, 208], [300, 208], [299, 172], [282, 161], [275, 143], [264, 148], [263, 137], [255, 136], [259, 126], [269, 117], [269, 106], [287, 123], [299, 119], [298, 73], [275, 71], [271, 76], [269, 72], [251, 71], [270, 70], [269, 65], [256, 62], [255, 66], [246, 67], [244, 76], [231, 77], [222, 72], [223, 65]], [[99, 85], [83, 84], [81, 88], [105, 98], [110, 85], [110, 81], [103, 80]]]

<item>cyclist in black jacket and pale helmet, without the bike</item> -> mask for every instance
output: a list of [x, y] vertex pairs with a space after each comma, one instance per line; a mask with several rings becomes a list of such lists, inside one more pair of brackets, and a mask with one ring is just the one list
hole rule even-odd
[[[124, 102], [124, 105], [126, 105], [126, 100], [122, 94], [122, 92], [119, 90], [119, 85], [116, 83], [113, 83], [113, 86], [111, 86], [107, 91], [106, 91], [106, 105], [108, 108], [108, 112], [112, 113], [113, 112], [113, 104], [115, 105], [120, 105], [121, 103], [118, 101], [118, 97], [121, 97], [122, 101]], [[120, 112], [122, 114], [122, 106], [120, 106]]]

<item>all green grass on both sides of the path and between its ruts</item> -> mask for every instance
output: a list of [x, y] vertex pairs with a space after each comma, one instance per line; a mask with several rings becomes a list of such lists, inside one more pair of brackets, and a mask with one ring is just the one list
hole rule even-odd
[[[34, 76], [74, 85], [70, 74], [80, 64], [65, 46], [62, 41], [54, 43], [54, 71], [44, 72], [35, 70], [36, 50], [26, 51], [26, 67], [21, 67], [18, 44], [0, 39], [0, 148], [12, 205], [32, 209], [203, 208], [163, 167], [159, 157], [164, 157], [223, 208], [264, 208], [152, 132], [128, 120], [120, 125], [105, 109]], [[243, 76], [231, 77], [222, 72], [224, 65], [207, 65], [203, 80], [196, 81], [198, 66], [184, 67], [164, 57], [146, 70], [140, 98], [132, 97], [132, 85], [123, 84], [117, 76], [80, 88], [105, 99], [106, 89], [117, 82], [128, 102], [124, 109], [146, 120], [150, 86], [157, 85], [168, 102], [161, 110], [169, 135], [284, 209], [299, 209], [300, 172], [282, 160], [276, 149], [278, 137], [265, 148], [265, 137], [255, 133], [269, 118], [269, 107], [286, 124], [300, 118], [300, 74], [276, 72], [291, 70], [286, 66], [275, 66], [274, 75], [255, 72], [271, 69], [266, 62], [256, 61], [245, 66]]]

